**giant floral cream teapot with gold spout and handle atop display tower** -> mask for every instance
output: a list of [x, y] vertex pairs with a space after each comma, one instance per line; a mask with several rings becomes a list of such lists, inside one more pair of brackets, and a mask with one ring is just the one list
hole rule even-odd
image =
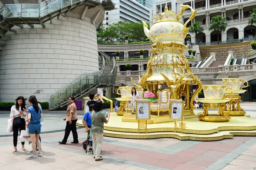
[[[153, 24], [151, 29], [148, 29], [148, 25], [143, 21], [145, 35], [151, 40], [152, 43], [176, 41], [177, 43], [183, 43], [183, 40], [188, 32], [187, 23], [195, 17], [197, 10], [193, 10], [191, 6], [181, 6], [179, 14], [174, 11], [169, 11], [168, 7], [165, 6], [165, 13], [153, 15], [156, 22]], [[183, 11], [185, 9], [191, 9], [191, 16], [189, 20], [183, 25], [180, 22], [180, 17], [183, 17]]]

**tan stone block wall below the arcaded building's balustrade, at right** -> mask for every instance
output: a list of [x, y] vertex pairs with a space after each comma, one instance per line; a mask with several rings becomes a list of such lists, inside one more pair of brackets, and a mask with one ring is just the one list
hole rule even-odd
[[201, 60], [209, 57], [211, 52], [215, 52], [215, 59], [226, 59], [228, 56], [228, 51], [233, 51], [233, 55], [236, 57], [242, 57], [243, 54], [248, 54], [252, 51], [250, 42], [244, 43], [233, 43], [224, 45], [213, 45], [213, 46], [199, 46], [201, 52]]

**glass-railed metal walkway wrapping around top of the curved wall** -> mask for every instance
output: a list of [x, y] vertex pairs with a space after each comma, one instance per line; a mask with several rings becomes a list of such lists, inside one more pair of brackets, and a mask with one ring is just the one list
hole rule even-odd
[[[115, 9], [112, 0], [46, 0], [39, 4], [7, 4], [0, 9], [0, 37], [11, 39], [6, 32], [17, 33], [12, 29], [13, 26], [23, 28], [26, 24], [31, 28], [34, 24], [41, 24], [52, 21], [53, 18], [66, 14], [82, 5], [88, 6], [88, 9], [102, 5], [106, 11]], [[1, 44], [6, 44], [4, 41]]]

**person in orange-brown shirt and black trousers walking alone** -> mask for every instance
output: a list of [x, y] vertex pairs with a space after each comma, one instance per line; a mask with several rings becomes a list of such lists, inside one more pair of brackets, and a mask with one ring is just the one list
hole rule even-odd
[[75, 98], [73, 96], [69, 97], [68, 99], [70, 105], [67, 107], [67, 116], [63, 119], [67, 122], [66, 128], [65, 128], [65, 135], [62, 141], [59, 141], [59, 144], [66, 144], [67, 138], [70, 135], [70, 131], [72, 131], [73, 134], [73, 141], [71, 144], [78, 144], [78, 134], [76, 131], [76, 121], [77, 121], [77, 115], [76, 115], [76, 104], [75, 104]]

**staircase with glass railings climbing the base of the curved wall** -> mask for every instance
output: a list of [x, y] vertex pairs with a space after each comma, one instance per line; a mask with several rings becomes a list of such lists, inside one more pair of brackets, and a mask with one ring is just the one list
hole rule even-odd
[[68, 98], [75, 99], [88, 95], [97, 87], [107, 87], [115, 84], [116, 66], [115, 59], [110, 58], [104, 52], [99, 51], [99, 72], [84, 73], [63, 89], [50, 96], [50, 110], [59, 109], [68, 104]]

